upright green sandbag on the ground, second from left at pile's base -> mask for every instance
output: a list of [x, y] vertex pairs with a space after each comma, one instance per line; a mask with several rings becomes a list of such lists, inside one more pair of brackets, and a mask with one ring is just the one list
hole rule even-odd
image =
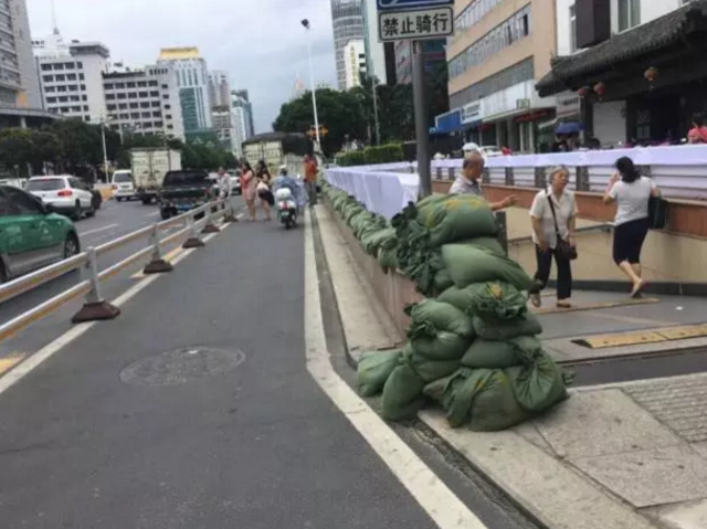
[[424, 382], [407, 363], [398, 366], [383, 387], [382, 415], [389, 421], [413, 419], [424, 405]]

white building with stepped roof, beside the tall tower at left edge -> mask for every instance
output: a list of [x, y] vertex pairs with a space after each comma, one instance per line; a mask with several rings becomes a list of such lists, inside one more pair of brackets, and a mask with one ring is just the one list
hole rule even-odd
[[64, 43], [57, 32], [33, 42], [43, 108], [84, 121], [104, 120], [109, 50], [99, 42]]

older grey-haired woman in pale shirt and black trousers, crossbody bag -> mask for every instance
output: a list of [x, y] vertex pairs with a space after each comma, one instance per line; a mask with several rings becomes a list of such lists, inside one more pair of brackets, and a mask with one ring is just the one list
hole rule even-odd
[[552, 258], [557, 266], [557, 307], [571, 308], [572, 260], [577, 258], [577, 201], [567, 189], [570, 171], [558, 166], [550, 172], [550, 186], [535, 195], [530, 207], [532, 242], [537, 261], [536, 286], [530, 292], [530, 301], [540, 307], [540, 293], [550, 279]]

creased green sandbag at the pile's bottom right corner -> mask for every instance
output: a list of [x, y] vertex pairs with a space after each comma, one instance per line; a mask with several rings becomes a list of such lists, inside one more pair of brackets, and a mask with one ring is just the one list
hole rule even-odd
[[524, 410], [542, 413], [568, 398], [562, 368], [546, 352], [531, 366], [507, 370], [516, 399]]

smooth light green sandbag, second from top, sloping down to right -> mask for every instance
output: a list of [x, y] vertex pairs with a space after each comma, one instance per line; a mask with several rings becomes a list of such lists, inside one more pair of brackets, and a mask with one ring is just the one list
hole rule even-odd
[[458, 288], [489, 281], [503, 281], [519, 290], [528, 290], [534, 285], [530, 276], [515, 261], [471, 244], [445, 244], [442, 246], [442, 261]]

